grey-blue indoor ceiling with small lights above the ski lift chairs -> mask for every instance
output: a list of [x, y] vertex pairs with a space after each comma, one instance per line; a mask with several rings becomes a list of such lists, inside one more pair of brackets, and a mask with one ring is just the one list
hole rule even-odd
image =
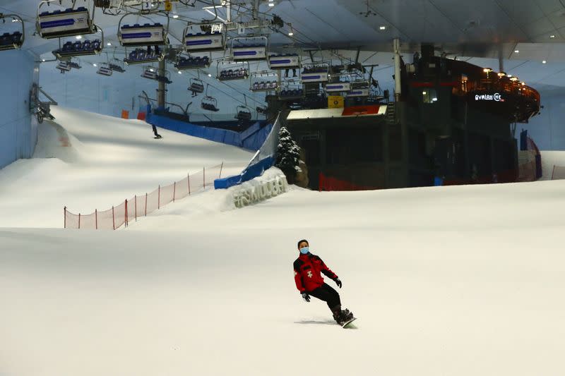
[[[403, 53], [412, 54], [421, 43], [434, 43], [438, 54], [471, 60], [482, 66], [527, 75], [531, 83], [547, 88], [565, 87], [565, 0], [255, 0], [263, 18], [277, 15], [285, 25], [270, 36], [273, 49], [300, 48], [362, 63], [391, 66], [392, 40], [399, 38]], [[232, 20], [249, 20], [252, 0], [232, 0]], [[66, 4], [68, 1], [63, 1]], [[181, 44], [187, 23], [227, 19], [227, 4], [220, 0], [174, 2], [169, 41]], [[16, 13], [25, 23], [24, 49], [52, 59], [57, 40], [44, 40], [35, 32], [39, 0], [0, 0], [1, 13]], [[55, 2], [54, 4], [57, 4]], [[92, 4], [77, 0], [76, 6]], [[185, 4], [194, 4], [187, 6]], [[58, 4], [57, 4], [58, 5]], [[215, 11], [214, 11], [215, 9]], [[105, 50], [124, 54], [117, 28], [121, 16], [96, 8], [95, 23], [105, 34]], [[128, 22], [147, 16], [130, 15]], [[125, 22], [125, 21], [124, 21]], [[145, 21], [146, 22], [146, 21]], [[288, 34], [293, 32], [292, 36]], [[232, 32], [232, 37], [237, 32]], [[221, 54], [215, 54], [216, 59]]]

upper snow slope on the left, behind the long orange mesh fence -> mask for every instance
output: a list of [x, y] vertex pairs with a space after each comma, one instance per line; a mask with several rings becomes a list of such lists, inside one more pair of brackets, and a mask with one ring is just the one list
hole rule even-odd
[[222, 176], [238, 174], [253, 154], [165, 129], [155, 140], [143, 121], [52, 111], [57, 123], [40, 125], [35, 158], [0, 169], [0, 227], [61, 228], [64, 206], [107, 210], [222, 162]]

